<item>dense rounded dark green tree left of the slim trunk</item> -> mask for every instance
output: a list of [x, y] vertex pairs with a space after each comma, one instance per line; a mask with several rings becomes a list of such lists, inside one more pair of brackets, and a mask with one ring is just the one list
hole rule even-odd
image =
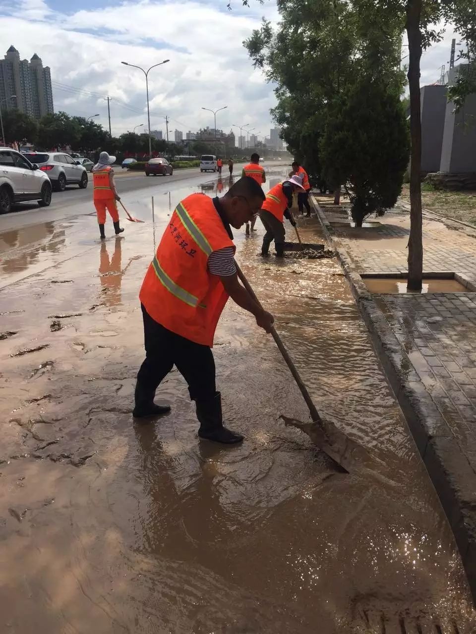
[[326, 177], [345, 183], [356, 226], [370, 214], [383, 216], [402, 190], [409, 134], [398, 89], [398, 83], [392, 91], [378, 78], [349, 86], [324, 127]]

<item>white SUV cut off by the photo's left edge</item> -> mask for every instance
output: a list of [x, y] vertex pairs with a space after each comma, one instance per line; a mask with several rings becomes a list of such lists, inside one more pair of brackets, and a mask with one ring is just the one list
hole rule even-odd
[[50, 179], [20, 152], [0, 148], [0, 213], [8, 214], [14, 203], [31, 200], [40, 207], [50, 205]]

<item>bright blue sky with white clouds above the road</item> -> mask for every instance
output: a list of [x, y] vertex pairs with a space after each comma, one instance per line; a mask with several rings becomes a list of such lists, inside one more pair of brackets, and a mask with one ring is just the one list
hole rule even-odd
[[[275, 22], [274, 0], [1, 0], [0, 55], [13, 44], [20, 57], [37, 53], [51, 68], [55, 110], [88, 117], [107, 127], [110, 103], [112, 134], [143, 123], [147, 129], [142, 67], [169, 59], [149, 75], [150, 127], [195, 131], [213, 127], [213, 115], [201, 107], [227, 110], [217, 127], [255, 127], [269, 135], [272, 86], [253, 69], [242, 41], [259, 27], [261, 17]], [[423, 55], [422, 84], [439, 78], [449, 60], [453, 33]], [[3, 48], [1, 48], [3, 46]], [[404, 48], [402, 56], [406, 55]], [[93, 94], [91, 94], [93, 93]], [[237, 133], [236, 129], [234, 129]], [[172, 133], [173, 136], [173, 133]], [[184, 134], [185, 137], [185, 134]]]

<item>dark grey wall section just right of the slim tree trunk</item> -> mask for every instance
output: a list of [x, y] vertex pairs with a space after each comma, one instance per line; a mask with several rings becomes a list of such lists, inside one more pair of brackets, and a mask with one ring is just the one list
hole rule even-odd
[[446, 114], [446, 86], [423, 86], [421, 100], [421, 171], [440, 169]]

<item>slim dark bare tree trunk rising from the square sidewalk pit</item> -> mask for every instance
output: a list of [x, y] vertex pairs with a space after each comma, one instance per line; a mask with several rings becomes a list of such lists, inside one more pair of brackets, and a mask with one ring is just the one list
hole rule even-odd
[[420, 59], [422, 0], [407, 0], [408, 85], [410, 89], [410, 236], [408, 240], [407, 290], [421, 290], [423, 242], [421, 236], [421, 112]]

